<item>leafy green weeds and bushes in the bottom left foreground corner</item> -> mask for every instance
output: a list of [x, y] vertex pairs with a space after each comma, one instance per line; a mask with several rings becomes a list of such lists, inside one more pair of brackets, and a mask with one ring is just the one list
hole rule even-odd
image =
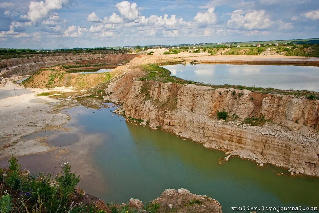
[[0, 168], [0, 173], [4, 174], [0, 178], [1, 212], [103, 212], [91, 203], [72, 202], [80, 176], [72, 173], [69, 163], [62, 164], [61, 171], [54, 178], [41, 172], [29, 175], [21, 170], [18, 159], [13, 156], [8, 163], [7, 169]]

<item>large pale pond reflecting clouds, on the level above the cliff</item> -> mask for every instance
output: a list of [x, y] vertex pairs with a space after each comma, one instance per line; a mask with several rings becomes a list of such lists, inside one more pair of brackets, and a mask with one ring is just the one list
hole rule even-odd
[[162, 66], [171, 75], [213, 85], [242, 85], [319, 92], [319, 66], [177, 64]]

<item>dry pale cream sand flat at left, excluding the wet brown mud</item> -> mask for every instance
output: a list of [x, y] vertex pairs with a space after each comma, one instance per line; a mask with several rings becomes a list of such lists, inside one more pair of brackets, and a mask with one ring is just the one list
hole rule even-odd
[[[9, 81], [1, 90], [13, 88], [21, 89]], [[40, 140], [21, 141], [20, 138], [45, 128], [61, 126], [69, 120], [68, 115], [56, 111], [56, 107], [61, 105], [60, 100], [48, 96], [37, 97], [37, 94], [45, 91], [43, 89], [34, 91], [0, 100], [0, 142], [2, 145], [0, 158], [12, 154], [23, 156], [51, 150], [52, 148]]]

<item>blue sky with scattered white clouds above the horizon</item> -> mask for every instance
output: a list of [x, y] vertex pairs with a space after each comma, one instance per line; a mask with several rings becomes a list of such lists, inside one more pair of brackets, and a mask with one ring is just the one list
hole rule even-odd
[[0, 0], [0, 48], [319, 37], [319, 0]]

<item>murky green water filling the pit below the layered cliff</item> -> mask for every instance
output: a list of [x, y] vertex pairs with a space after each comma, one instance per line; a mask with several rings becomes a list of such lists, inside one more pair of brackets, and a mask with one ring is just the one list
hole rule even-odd
[[[202, 144], [149, 127], [125, 123], [110, 110], [74, 107], [65, 110], [71, 120], [64, 126], [82, 133], [98, 133], [103, 143], [92, 156], [106, 182], [103, 193], [90, 189], [106, 202], [149, 202], [166, 188], [186, 188], [220, 202], [223, 212], [231, 207], [319, 207], [319, 179], [289, 177], [286, 170], [232, 157], [218, 164], [224, 153]], [[93, 113], [94, 112], [94, 113]], [[283, 172], [285, 175], [278, 175]]]

